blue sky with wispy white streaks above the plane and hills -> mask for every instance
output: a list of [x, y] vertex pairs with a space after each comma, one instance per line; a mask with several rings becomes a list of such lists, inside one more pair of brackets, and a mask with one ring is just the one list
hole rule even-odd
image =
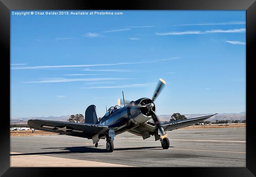
[[245, 11], [118, 12], [11, 11], [11, 117], [84, 114], [91, 104], [102, 117], [122, 91], [152, 98], [159, 78], [158, 115], [245, 111]]

